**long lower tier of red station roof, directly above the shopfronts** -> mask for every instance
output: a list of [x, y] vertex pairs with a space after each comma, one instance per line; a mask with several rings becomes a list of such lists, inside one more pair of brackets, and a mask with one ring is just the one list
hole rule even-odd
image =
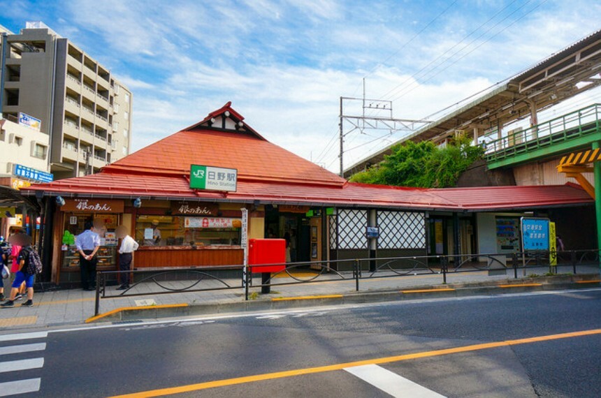
[[[101, 187], [101, 189], [99, 189]], [[36, 184], [29, 189], [47, 193], [103, 197], [171, 198], [182, 200], [289, 203], [391, 207], [400, 209], [500, 210], [535, 209], [593, 203], [571, 184], [552, 186], [483, 186], [456, 189], [419, 189], [348, 183], [344, 187], [273, 182], [239, 182], [238, 191], [220, 193], [189, 188], [184, 177], [124, 175], [101, 172], [87, 177]]]

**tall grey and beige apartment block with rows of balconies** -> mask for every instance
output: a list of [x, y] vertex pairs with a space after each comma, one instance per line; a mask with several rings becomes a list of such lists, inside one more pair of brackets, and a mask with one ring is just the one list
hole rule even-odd
[[42, 22], [2, 35], [0, 113], [40, 120], [55, 179], [92, 174], [129, 154], [133, 98], [106, 66]]

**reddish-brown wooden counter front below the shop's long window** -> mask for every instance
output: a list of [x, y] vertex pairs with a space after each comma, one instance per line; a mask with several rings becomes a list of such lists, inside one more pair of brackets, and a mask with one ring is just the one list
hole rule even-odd
[[240, 246], [140, 246], [134, 268], [242, 265]]

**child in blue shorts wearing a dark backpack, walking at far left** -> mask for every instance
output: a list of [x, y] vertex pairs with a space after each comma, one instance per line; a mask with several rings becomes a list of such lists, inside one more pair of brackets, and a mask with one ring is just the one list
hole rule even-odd
[[13, 288], [10, 289], [10, 298], [8, 301], [0, 304], [1, 308], [15, 307], [15, 297], [23, 282], [25, 282], [25, 285], [27, 286], [27, 301], [21, 305], [23, 307], [31, 307], [34, 305], [34, 278], [36, 277], [36, 269], [38, 268], [38, 265], [36, 264], [38, 261], [34, 261], [34, 258], [39, 260], [39, 256], [38, 253], [34, 251], [34, 248], [31, 247], [31, 237], [29, 235], [22, 234], [19, 238], [22, 249], [16, 259], [17, 272], [15, 272]]

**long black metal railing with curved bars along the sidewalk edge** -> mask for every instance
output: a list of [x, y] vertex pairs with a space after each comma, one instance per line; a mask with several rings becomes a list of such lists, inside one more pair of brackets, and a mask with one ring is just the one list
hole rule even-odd
[[[556, 259], [556, 264], [552, 260]], [[280, 265], [279, 272], [261, 272]], [[456, 256], [405, 256], [390, 258], [359, 258], [349, 260], [312, 261], [306, 263], [252, 265], [245, 270], [242, 265], [224, 267], [154, 268], [131, 271], [100, 271], [97, 273], [94, 315], [100, 311], [104, 298], [163, 295], [171, 293], [198, 293], [214, 290], [242, 291], [249, 299], [250, 288], [263, 292], [277, 286], [306, 283], [354, 282], [356, 291], [361, 281], [390, 277], [440, 275], [447, 283], [449, 274], [488, 272], [488, 275], [505, 275], [508, 278], [543, 274], [570, 273], [582, 270], [599, 272], [600, 251], [597, 249], [572, 251], [537, 251], [511, 254], [470, 254]], [[245, 272], [246, 271], [246, 272]], [[131, 286], [125, 290], [108, 290], [107, 286], [129, 274]], [[261, 275], [261, 279], [253, 275]], [[260, 280], [260, 283], [256, 283]], [[267, 290], [265, 290], [267, 289]]]

